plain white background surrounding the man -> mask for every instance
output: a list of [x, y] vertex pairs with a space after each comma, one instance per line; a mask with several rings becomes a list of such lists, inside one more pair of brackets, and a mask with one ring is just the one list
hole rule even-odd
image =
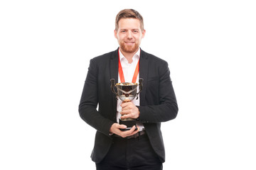
[[178, 100], [164, 169], [256, 169], [253, 1], [1, 1], [0, 169], [95, 169], [78, 114], [92, 57], [116, 50], [114, 18], [144, 17], [142, 50], [169, 62]]

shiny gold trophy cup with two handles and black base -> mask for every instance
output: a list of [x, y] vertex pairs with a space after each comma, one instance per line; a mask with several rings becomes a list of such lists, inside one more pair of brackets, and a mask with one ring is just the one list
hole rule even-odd
[[[118, 97], [121, 101], [123, 102], [130, 102], [132, 101], [135, 97], [136, 100], [138, 99], [139, 93], [142, 91], [142, 81], [143, 79], [139, 79], [139, 92], [137, 93], [137, 83], [117, 83], [115, 84], [114, 79], [110, 79], [111, 81], [111, 90], [112, 92], [116, 95], [116, 98]], [[117, 92], [114, 91], [114, 87], [117, 88]], [[119, 119], [119, 124], [120, 125], [126, 125], [126, 129], [120, 129], [122, 131], [125, 130], [130, 130], [134, 125], [135, 125], [135, 130], [137, 130], [136, 126], [136, 120], [132, 118], [126, 118], [126, 119]]]

